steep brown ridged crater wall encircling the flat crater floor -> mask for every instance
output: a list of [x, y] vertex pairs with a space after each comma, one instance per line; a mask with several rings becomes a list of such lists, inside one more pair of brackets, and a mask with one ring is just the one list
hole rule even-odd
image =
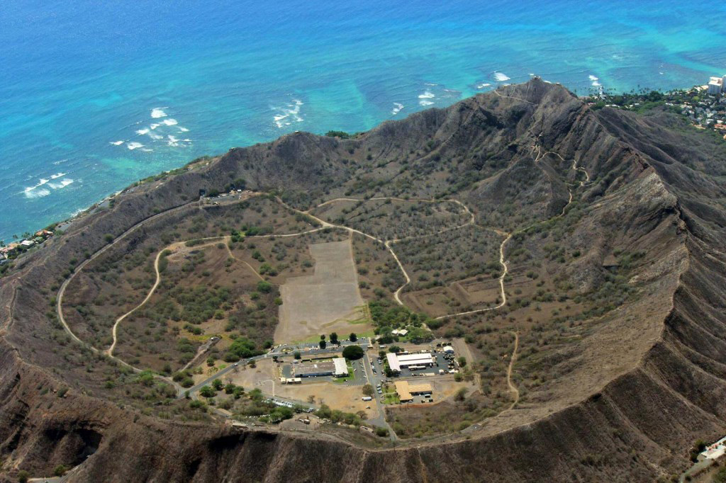
[[[593, 112], [532, 80], [355, 139], [290, 134], [136, 186], [0, 280], [0, 479], [60, 463], [77, 465], [70, 480], [83, 482], [631, 482], [677, 473], [695, 439], [726, 432], [726, 161], [711, 142], [675, 117]], [[372, 450], [326, 434], [160, 420], [89, 395], [110, 363], [65, 366], [46, 314], [69, 260], [144, 219], [186, 216], [200, 189], [239, 177], [301, 207], [359, 183], [455, 195], [478, 221], [511, 229], [557, 215], [582, 184], [586, 211], [570, 242], [597, 249], [568, 271], [586, 290], [602, 283], [595, 268], [613, 247], [642, 249], [648, 263], [632, 282], [644, 295], [582, 342], [550, 402], [505, 411], [470, 437]], [[504, 206], [526, 216], [514, 220]]]

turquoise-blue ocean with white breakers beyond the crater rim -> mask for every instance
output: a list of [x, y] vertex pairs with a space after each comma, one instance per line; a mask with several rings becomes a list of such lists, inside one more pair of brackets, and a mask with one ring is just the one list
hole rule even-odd
[[0, 3], [6, 241], [202, 154], [362, 131], [531, 74], [586, 94], [726, 73], [718, 2], [51, 5]]

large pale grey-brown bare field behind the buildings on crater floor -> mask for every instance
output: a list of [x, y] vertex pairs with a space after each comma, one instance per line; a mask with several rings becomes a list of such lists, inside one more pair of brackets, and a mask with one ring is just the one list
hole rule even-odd
[[364, 302], [351, 240], [311, 244], [309, 249], [315, 260], [314, 274], [288, 278], [280, 286], [283, 303], [274, 341], [289, 343], [333, 331], [369, 330], [368, 325], [352, 323], [362, 318]]

